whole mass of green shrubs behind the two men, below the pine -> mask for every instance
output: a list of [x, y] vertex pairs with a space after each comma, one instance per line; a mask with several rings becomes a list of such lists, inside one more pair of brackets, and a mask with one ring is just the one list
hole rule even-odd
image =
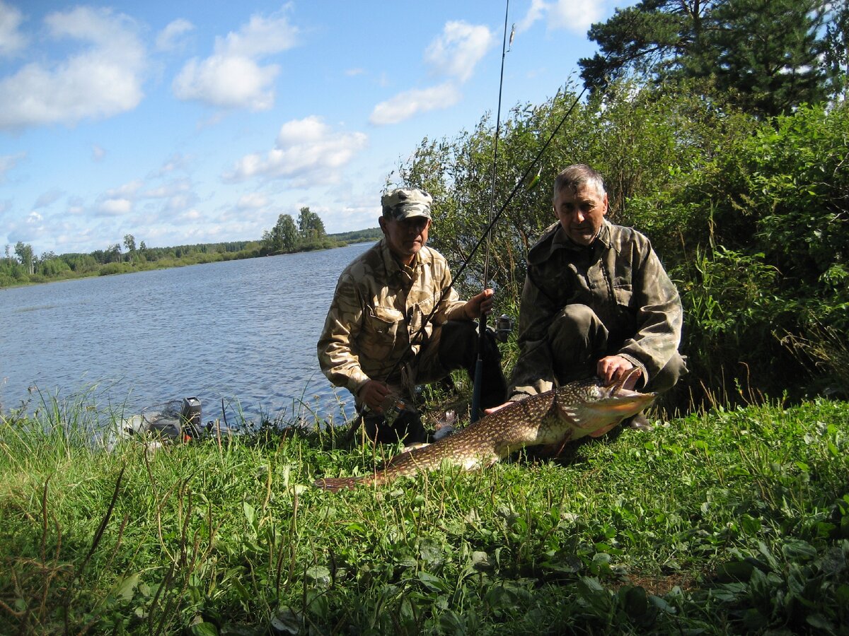
[[433, 242], [453, 263], [469, 261], [458, 287], [480, 288], [486, 263], [487, 284], [510, 308], [527, 249], [554, 222], [554, 176], [593, 165], [608, 185], [610, 219], [649, 236], [682, 292], [692, 372], [678, 405], [717, 394], [845, 394], [845, 383], [834, 385], [845, 349], [823, 334], [849, 326], [849, 107], [803, 105], [762, 120], [730, 104], [706, 81], [622, 81], [588, 102], [566, 87], [510, 112], [494, 188], [488, 118], [453, 139], [424, 139], [398, 176], [435, 194]]

